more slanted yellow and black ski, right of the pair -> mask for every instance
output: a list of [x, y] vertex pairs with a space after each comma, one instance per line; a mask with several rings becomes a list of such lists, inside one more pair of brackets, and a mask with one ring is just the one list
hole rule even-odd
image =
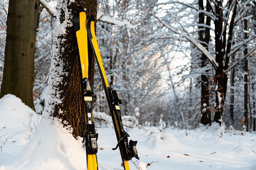
[[116, 137], [118, 141], [117, 147], [119, 146], [119, 149], [120, 149], [124, 169], [129, 170], [130, 168], [129, 168], [128, 160], [130, 160], [132, 157], [136, 157], [137, 159], [139, 159], [137, 149], [135, 147], [137, 141], [130, 140], [130, 142], [128, 143], [129, 134], [123, 128], [121, 111], [119, 107], [119, 104], [122, 104], [121, 98], [119, 97], [117, 92], [111, 87], [109, 87], [108, 85], [108, 81], [106, 78], [105, 70], [103, 67], [103, 63], [102, 63], [102, 59], [99, 51], [99, 46], [96, 40], [94, 26], [95, 26], [94, 16], [90, 16], [87, 22], [88, 37], [96, 57], [97, 65], [99, 67], [102, 82], [104, 85], [105, 94], [108, 100], [108, 105], [110, 108], [110, 113], [114, 123]]

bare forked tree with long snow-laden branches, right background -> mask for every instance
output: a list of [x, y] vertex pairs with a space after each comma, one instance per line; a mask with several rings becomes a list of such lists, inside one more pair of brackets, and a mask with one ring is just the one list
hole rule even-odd
[[[201, 2], [201, 1], [200, 1]], [[203, 6], [200, 5], [198, 8], [195, 2], [188, 4], [184, 2], [177, 2], [177, 1], [170, 1], [166, 3], [160, 3], [158, 6], [162, 5], [173, 5], [174, 9], [183, 9], [184, 7], [190, 8], [191, 11], [184, 12], [182, 10], [173, 10], [172, 12], [169, 12], [166, 10], [166, 16], [159, 15], [157, 16], [157, 12], [154, 12], [155, 18], [160, 22], [160, 24], [163, 25], [166, 29], [169, 31], [172, 31], [174, 33], [174, 36], [169, 36], [170, 39], [167, 42], [172, 42], [174, 39], [177, 41], [183, 41], [194, 44], [201, 53], [207, 58], [209, 63], [212, 64], [213, 74], [212, 77], [213, 81], [215, 82], [215, 115], [214, 115], [214, 121], [220, 122], [221, 116], [223, 113], [223, 107], [224, 107], [224, 101], [226, 98], [226, 92], [227, 92], [227, 72], [237, 63], [240, 62], [242, 59], [238, 60], [234, 63], [234, 65], [230, 66], [230, 56], [238, 52], [241, 47], [254, 39], [253, 36], [249, 37], [248, 39], [244, 41], [240, 41], [238, 44], [232, 47], [232, 41], [235, 38], [234, 35], [234, 27], [237, 25], [238, 21], [241, 21], [243, 17], [245, 17], [246, 12], [248, 11], [247, 8], [244, 8], [250, 1], [244, 1], [240, 2], [241, 4], [238, 4], [238, 1], [206, 1], [206, 10], [202, 10]], [[202, 2], [201, 2], [202, 3]], [[208, 4], [208, 6], [207, 6]], [[239, 8], [238, 8], [239, 6]], [[161, 14], [163, 13], [162, 8]], [[174, 14], [173, 14], [174, 13]], [[200, 14], [199, 18], [202, 14], [209, 17], [211, 19], [212, 23], [214, 24], [214, 28], [210, 27], [211, 24], [207, 24], [206, 22], [202, 22], [200, 20], [200, 23], [198, 25], [191, 23], [193, 20], [191, 18], [192, 15]], [[169, 14], [173, 18], [169, 18]], [[238, 15], [239, 14], [239, 15]], [[190, 19], [190, 20], [185, 20]], [[201, 17], [201, 19], [203, 19]], [[206, 18], [207, 20], [207, 18]], [[188, 22], [190, 21], [190, 22]], [[179, 26], [179, 27], [178, 27]], [[191, 28], [191, 29], [189, 29]], [[199, 28], [199, 29], [198, 29]], [[200, 29], [201, 28], [201, 29]], [[197, 32], [203, 33], [202, 28], [210, 28], [213, 30], [214, 36], [210, 37], [210, 40], [214, 42], [214, 47], [211, 49], [214, 49], [211, 51], [211, 49], [207, 49], [207, 46], [203, 46], [202, 44], [207, 44], [205, 42], [199, 42], [196, 40], [194, 33]], [[206, 29], [204, 30], [206, 31]], [[167, 35], [167, 34], [166, 34]], [[202, 37], [202, 36], [201, 36]], [[159, 37], [160, 38], [160, 37]], [[209, 48], [210, 46], [208, 46]], [[253, 50], [252, 50], [253, 51]], [[249, 54], [249, 53], [248, 53]], [[215, 57], [214, 57], [215, 56]], [[246, 55], [247, 57], [248, 55]], [[246, 58], [244, 57], [244, 58]], [[243, 59], [244, 59], [243, 58]], [[201, 73], [201, 74], [205, 74]], [[205, 85], [205, 84], [203, 84]], [[206, 86], [207, 87], [207, 86]], [[206, 96], [206, 95], [204, 95]], [[203, 96], [203, 97], [204, 97]], [[203, 98], [203, 100], [205, 100]], [[204, 102], [202, 102], [203, 104]]]

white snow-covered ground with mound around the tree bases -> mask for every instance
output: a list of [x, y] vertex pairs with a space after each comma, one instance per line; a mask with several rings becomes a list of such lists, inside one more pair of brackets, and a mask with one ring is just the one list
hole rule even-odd
[[[13, 95], [0, 99], [0, 129], [0, 170], [86, 169], [81, 138], [74, 139], [57, 120], [37, 115]], [[114, 129], [101, 125], [97, 132], [99, 169], [122, 169], [119, 150], [112, 150]], [[130, 169], [256, 169], [254, 132], [242, 135], [216, 124], [187, 132], [157, 127], [127, 132], [138, 140], [140, 157], [129, 161]]]

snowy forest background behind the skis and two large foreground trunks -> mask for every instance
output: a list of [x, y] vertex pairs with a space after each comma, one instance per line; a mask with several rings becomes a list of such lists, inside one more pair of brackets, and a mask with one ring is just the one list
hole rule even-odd
[[[44, 1], [40, 1], [41, 4]], [[56, 8], [57, 1], [46, 1]], [[255, 130], [255, 1], [98, 1], [97, 40], [124, 115], [194, 128], [216, 121]], [[9, 1], [0, 2], [0, 85]], [[44, 105], [56, 14], [40, 5], [33, 100]], [[94, 110], [108, 113], [100, 74]]]

